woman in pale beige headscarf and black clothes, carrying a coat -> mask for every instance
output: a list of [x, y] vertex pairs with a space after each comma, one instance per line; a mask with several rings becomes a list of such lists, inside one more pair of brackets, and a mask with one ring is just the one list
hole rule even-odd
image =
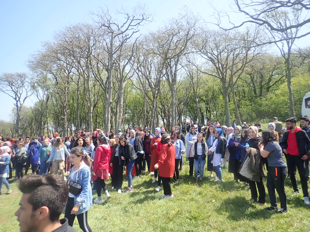
[[[258, 127], [255, 126], [250, 126], [248, 129], [248, 135], [250, 139], [248, 139], [247, 144], [249, 144], [250, 148], [255, 148], [259, 149], [258, 144], [259, 142], [262, 141], [261, 137], [258, 135]], [[249, 149], [246, 149], [247, 152], [249, 152]], [[258, 203], [265, 205], [266, 204], [266, 192], [265, 192], [265, 186], [263, 183], [263, 178], [260, 177], [260, 181], [256, 182], [253, 180], [248, 180], [248, 183], [250, 185], [250, 190], [251, 190], [251, 201], [252, 202], [257, 202], [258, 198]], [[259, 196], [257, 195], [257, 189], [259, 192]]]

